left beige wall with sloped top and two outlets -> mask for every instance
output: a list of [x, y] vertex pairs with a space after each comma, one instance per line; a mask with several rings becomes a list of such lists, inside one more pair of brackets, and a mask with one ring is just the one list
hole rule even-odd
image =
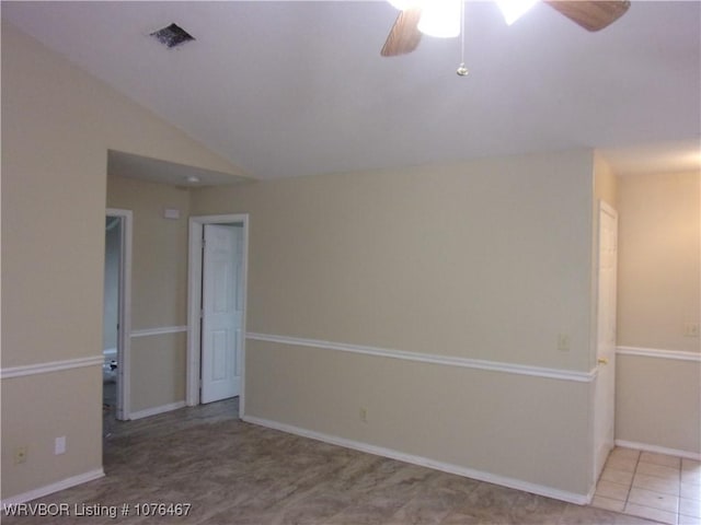
[[[101, 354], [107, 149], [238, 173], [2, 20], [3, 371]], [[3, 499], [101, 468], [100, 377], [2, 380]]]

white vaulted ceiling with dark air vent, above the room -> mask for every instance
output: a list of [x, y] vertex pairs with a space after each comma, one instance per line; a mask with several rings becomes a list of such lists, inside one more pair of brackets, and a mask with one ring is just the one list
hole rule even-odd
[[[680, 158], [701, 137], [698, 1], [633, 0], [599, 33], [545, 4], [509, 27], [468, 2], [467, 78], [459, 38], [380, 57], [386, 1], [3, 1], [2, 16], [258, 178], [581, 147]], [[149, 36], [173, 22], [195, 40]]]

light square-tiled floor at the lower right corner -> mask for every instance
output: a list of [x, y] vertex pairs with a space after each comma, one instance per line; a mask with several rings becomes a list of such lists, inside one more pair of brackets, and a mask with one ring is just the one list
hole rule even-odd
[[617, 447], [591, 505], [669, 525], [701, 525], [701, 463]]

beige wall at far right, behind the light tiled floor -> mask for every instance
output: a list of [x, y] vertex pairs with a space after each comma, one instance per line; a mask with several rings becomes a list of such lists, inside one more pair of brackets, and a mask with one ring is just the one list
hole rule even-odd
[[616, 438], [691, 454], [701, 454], [701, 348], [683, 325], [701, 318], [700, 179], [623, 176], [618, 199], [618, 345], [656, 357], [619, 355]]

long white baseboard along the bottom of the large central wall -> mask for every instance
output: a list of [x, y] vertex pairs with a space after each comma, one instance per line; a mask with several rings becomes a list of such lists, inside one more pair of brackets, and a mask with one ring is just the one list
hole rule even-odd
[[575, 492], [567, 492], [559, 490], [552, 487], [545, 487], [543, 485], [531, 483], [520, 479], [508, 478], [505, 476], [498, 476], [482, 470], [474, 470], [472, 468], [461, 467], [459, 465], [452, 465], [449, 463], [437, 462], [428, 457], [416, 456], [413, 454], [405, 454], [403, 452], [394, 451], [392, 448], [384, 448], [381, 446], [370, 445], [354, 440], [346, 440], [345, 438], [338, 438], [336, 435], [324, 434], [312, 430], [301, 429], [290, 424], [279, 423], [268, 419], [256, 418], [254, 416], [243, 416], [243, 421], [249, 423], [258, 424], [268, 429], [279, 430], [290, 434], [300, 435], [302, 438], [309, 438], [311, 440], [330, 443], [332, 445], [343, 446], [345, 448], [352, 448], [368, 454], [375, 454], [377, 456], [388, 457], [390, 459], [397, 459], [399, 462], [411, 463], [412, 465], [418, 465], [422, 467], [433, 468], [448, 474], [455, 474], [463, 476], [466, 478], [476, 479], [480, 481], [486, 481], [490, 483], [501, 485], [512, 489], [524, 490], [533, 494], [544, 495], [548, 498], [554, 498], [556, 500], [566, 501], [568, 503], [576, 503], [578, 505], [588, 504], [591, 501], [594, 492], [589, 494], [579, 494]]

